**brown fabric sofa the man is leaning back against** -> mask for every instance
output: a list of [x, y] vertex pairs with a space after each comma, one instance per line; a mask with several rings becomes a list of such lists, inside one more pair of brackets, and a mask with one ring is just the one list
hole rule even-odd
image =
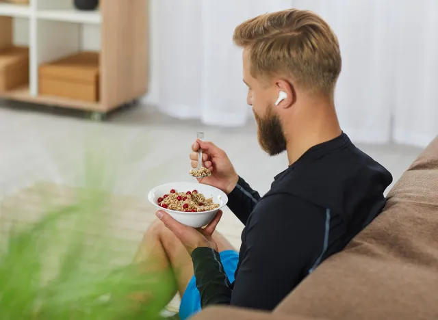
[[207, 308], [196, 320], [438, 319], [438, 137], [387, 206], [272, 312]]

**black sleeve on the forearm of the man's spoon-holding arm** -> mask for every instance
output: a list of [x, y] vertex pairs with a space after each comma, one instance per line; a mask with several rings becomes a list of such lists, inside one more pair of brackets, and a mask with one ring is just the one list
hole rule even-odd
[[248, 217], [259, 200], [259, 193], [253, 190], [243, 178], [239, 177], [237, 185], [228, 195], [227, 206], [240, 219], [242, 224], [246, 226]]

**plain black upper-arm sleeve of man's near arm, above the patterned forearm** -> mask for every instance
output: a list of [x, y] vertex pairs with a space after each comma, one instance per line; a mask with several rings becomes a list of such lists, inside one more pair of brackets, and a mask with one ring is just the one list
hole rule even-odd
[[263, 198], [246, 226], [230, 304], [274, 309], [324, 254], [325, 212], [294, 196]]

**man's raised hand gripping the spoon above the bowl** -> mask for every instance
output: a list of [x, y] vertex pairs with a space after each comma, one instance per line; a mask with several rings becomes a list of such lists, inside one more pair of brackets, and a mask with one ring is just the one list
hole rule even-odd
[[204, 185], [216, 187], [224, 191], [225, 194], [230, 194], [235, 185], [237, 185], [239, 176], [235, 172], [227, 153], [211, 142], [204, 142], [198, 139], [192, 145], [192, 153], [190, 154], [192, 168], [198, 166], [199, 148], [203, 150], [203, 166], [211, 171], [211, 176], [198, 178], [198, 181]]

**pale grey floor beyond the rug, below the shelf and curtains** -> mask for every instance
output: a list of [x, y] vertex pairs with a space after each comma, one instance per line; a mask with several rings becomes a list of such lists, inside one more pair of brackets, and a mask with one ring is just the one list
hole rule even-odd
[[[96, 123], [78, 111], [0, 101], [0, 198], [38, 181], [81, 185], [84, 156], [112, 174], [114, 183], [105, 187], [145, 198], [156, 185], [191, 179], [188, 156], [198, 131], [224, 148], [237, 172], [261, 194], [287, 165], [285, 155], [270, 158], [260, 150], [253, 122], [239, 129], [205, 127], [137, 106]], [[421, 152], [394, 144], [359, 147], [385, 165], [394, 181]], [[146, 211], [153, 215], [152, 207]], [[242, 224], [231, 212], [225, 212], [218, 230], [240, 246]]]

